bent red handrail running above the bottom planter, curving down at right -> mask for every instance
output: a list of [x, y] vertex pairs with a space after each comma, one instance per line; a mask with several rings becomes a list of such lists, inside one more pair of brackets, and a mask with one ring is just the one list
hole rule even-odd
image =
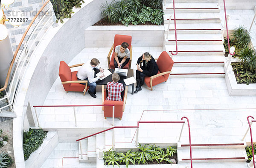
[[[192, 149], [191, 149], [191, 134], [190, 134], [190, 125], [189, 125], [189, 119], [187, 117], [182, 117], [181, 120], [183, 120], [183, 118], [186, 118], [187, 119], [187, 122], [188, 122], [188, 127], [189, 127], [189, 150], [190, 150], [190, 164], [191, 164], [191, 168], [193, 168], [193, 165], [192, 165]], [[115, 129], [115, 128], [139, 128], [140, 127], [140, 123], [185, 123], [185, 121], [138, 121], [137, 122], [137, 126], [113, 126], [109, 129], [105, 129], [101, 132], [97, 132], [95, 134], [91, 134], [87, 137], [83, 137], [83, 138], [80, 138], [77, 141], [80, 141], [80, 140], [83, 140], [85, 138], [88, 138], [88, 137], [92, 137], [94, 135], [97, 135], [97, 134], [100, 134], [102, 132], [106, 132], [106, 131], [109, 131], [111, 129]]]

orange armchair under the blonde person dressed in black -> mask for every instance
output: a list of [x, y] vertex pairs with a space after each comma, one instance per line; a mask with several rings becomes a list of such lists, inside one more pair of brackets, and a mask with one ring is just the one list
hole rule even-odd
[[164, 81], [167, 81], [169, 78], [169, 75], [172, 70], [172, 66], [174, 62], [172, 61], [172, 58], [169, 56], [169, 54], [166, 51], [163, 51], [157, 60], [157, 66], [158, 66], [158, 73], [154, 76], [145, 76], [145, 84], [148, 87], [151, 87], [151, 90], [153, 90], [153, 86], [160, 84]]

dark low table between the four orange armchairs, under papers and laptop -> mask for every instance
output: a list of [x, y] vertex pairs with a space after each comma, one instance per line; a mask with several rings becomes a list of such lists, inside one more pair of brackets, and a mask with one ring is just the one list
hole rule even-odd
[[[114, 73], [114, 71], [115, 70], [113, 70], [113, 69], [108, 69], [111, 73]], [[96, 74], [97, 73], [99, 73], [99, 70], [98, 69], [96, 69], [96, 68], [94, 68], [94, 71], [95, 71], [95, 77], [97, 77], [96, 76]], [[118, 81], [119, 83], [122, 83], [124, 86], [126, 86], [126, 84], [125, 84], [125, 82], [124, 82], [124, 79], [126, 79], [126, 78], [130, 78], [130, 77], [133, 77], [134, 75], [133, 75], [133, 70], [132, 69], [128, 69], [128, 73], [127, 73], [127, 77], [125, 77], [125, 76], [120, 76], [120, 80]], [[96, 81], [96, 84], [97, 85], [102, 85], [102, 84], [104, 84], [104, 85], [107, 85], [108, 84], [108, 82], [110, 82], [110, 81], [112, 81], [112, 76], [110, 75], [110, 76], [107, 76], [106, 78], [104, 78], [103, 80], [98, 80], [98, 81]], [[131, 86], [132, 88], [131, 88], [131, 94], [133, 95], [134, 94], [134, 84], [129, 84], [128, 86]]]

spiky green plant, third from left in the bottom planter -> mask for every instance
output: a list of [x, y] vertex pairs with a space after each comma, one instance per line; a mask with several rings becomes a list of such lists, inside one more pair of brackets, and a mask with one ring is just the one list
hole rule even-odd
[[148, 147], [146, 147], [146, 145], [149, 145], [149, 144], [145, 144], [144, 146], [142, 146], [139, 143], [139, 151], [137, 153], [137, 159], [139, 160], [138, 161], [139, 164], [140, 164], [140, 162], [143, 162], [143, 164], [145, 164], [146, 160], [152, 161], [151, 152], [154, 150], [152, 150], [152, 145], [148, 146]]

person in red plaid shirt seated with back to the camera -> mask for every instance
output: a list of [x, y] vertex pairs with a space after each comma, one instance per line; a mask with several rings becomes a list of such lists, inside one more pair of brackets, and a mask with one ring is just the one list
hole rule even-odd
[[118, 83], [120, 77], [117, 73], [112, 74], [112, 82], [107, 84], [107, 99], [108, 101], [122, 101], [122, 95], [124, 91], [124, 86]]

